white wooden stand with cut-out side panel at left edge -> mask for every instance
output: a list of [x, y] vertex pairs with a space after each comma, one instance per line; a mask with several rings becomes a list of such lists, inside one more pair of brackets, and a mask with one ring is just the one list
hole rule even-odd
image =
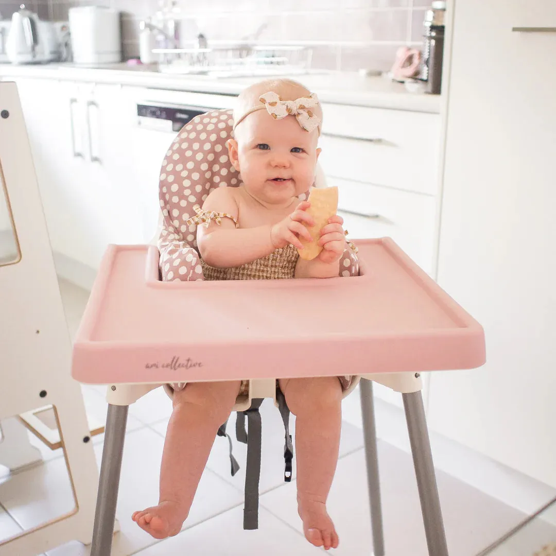
[[[91, 542], [98, 468], [81, 389], [68, 377], [71, 339], [17, 88], [11, 82], [0, 82], [0, 203], [4, 198], [14, 237], [10, 256], [0, 254], [4, 441], [13, 449], [25, 416], [53, 406], [75, 502], [70, 512], [0, 540], [1, 556], [34, 556], [70, 540]], [[17, 455], [8, 466], [33, 460], [32, 451]]]

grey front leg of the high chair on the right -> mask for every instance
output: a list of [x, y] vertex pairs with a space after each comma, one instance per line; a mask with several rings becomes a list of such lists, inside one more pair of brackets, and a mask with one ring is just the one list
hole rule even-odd
[[448, 556], [433, 455], [430, 450], [429, 431], [426, 428], [423, 396], [419, 391], [403, 394], [403, 399], [429, 554], [430, 556]]

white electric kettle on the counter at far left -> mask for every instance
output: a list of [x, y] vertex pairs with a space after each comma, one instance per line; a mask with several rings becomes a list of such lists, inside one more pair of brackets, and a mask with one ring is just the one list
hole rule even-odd
[[59, 59], [60, 46], [51, 22], [39, 21], [21, 4], [12, 16], [6, 39], [6, 54], [10, 62], [29, 64], [51, 62]]

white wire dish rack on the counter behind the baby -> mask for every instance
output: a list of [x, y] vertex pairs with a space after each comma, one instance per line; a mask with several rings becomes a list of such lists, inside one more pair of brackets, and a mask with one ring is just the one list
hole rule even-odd
[[155, 48], [164, 73], [249, 77], [299, 75], [311, 67], [312, 48], [273, 44], [237, 44], [210, 48]]

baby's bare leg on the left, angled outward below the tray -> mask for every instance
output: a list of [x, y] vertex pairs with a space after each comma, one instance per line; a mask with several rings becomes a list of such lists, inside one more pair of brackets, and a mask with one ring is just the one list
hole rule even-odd
[[239, 381], [189, 383], [173, 395], [160, 468], [158, 505], [132, 515], [156, 539], [177, 535], [187, 518], [216, 433], [234, 407]]

